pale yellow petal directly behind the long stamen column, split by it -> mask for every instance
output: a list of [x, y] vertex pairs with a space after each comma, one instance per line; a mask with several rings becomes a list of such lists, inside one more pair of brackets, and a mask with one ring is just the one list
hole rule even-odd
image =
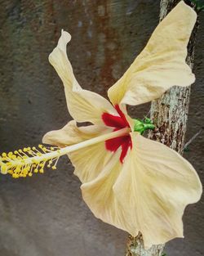
[[[98, 125], [78, 128], [75, 121], [70, 121], [60, 130], [47, 132], [42, 141], [64, 147], [112, 132], [112, 130], [113, 128]], [[104, 141], [102, 141], [93, 146], [86, 146], [86, 148], [73, 151], [68, 156], [75, 167], [74, 174], [79, 177], [81, 182], [89, 182], [98, 176], [112, 153], [105, 149]]]

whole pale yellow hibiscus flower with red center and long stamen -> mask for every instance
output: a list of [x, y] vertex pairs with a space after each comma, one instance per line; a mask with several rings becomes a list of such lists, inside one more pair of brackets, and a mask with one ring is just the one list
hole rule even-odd
[[[47, 153], [41, 146], [42, 150], [47, 159], [68, 154], [82, 182], [83, 200], [95, 217], [131, 236], [140, 231], [145, 247], [183, 237], [184, 208], [200, 199], [202, 185], [193, 166], [175, 150], [142, 136], [153, 124], [149, 119], [131, 119], [126, 105], [152, 101], [174, 85], [186, 87], [194, 82], [185, 59], [196, 19], [193, 9], [181, 1], [157, 26], [122, 78], [109, 88], [110, 102], [78, 84], [66, 54], [69, 33], [62, 30], [49, 56], [63, 81], [73, 120], [43, 137], [44, 143], [59, 148]], [[91, 125], [78, 127], [77, 122]], [[45, 158], [39, 154], [34, 164]], [[29, 168], [26, 156], [19, 161]], [[6, 165], [2, 172], [7, 173]]]

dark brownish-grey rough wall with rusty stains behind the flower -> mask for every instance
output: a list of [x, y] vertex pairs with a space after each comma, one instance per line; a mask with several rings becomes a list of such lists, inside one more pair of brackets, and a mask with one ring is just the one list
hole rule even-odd
[[[73, 36], [68, 52], [78, 82], [105, 96], [144, 47], [158, 13], [158, 0], [1, 1], [1, 151], [36, 146], [44, 133], [71, 119], [62, 83], [47, 61], [60, 29]], [[203, 127], [203, 41], [202, 13], [187, 141]], [[131, 108], [135, 117], [148, 110], [148, 105]], [[201, 133], [185, 154], [202, 180], [203, 143]], [[0, 255], [123, 255], [126, 232], [94, 218], [79, 186], [66, 157], [57, 171], [17, 180], [0, 176]], [[203, 210], [203, 200], [188, 206], [185, 239], [168, 243], [168, 255], [203, 255]]]

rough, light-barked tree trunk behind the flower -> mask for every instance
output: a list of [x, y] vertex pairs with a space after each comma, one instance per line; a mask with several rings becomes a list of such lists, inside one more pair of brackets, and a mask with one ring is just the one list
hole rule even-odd
[[[161, 0], [160, 21], [180, 0]], [[186, 1], [189, 2], [189, 1]], [[196, 23], [190, 41], [188, 43], [187, 63], [193, 68], [194, 46], [197, 34]], [[188, 106], [190, 100], [190, 87], [174, 87], [164, 93], [162, 97], [152, 102], [150, 115], [155, 131], [149, 132], [149, 138], [160, 141], [166, 146], [183, 153], [184, 136], [187, 128]], [[165, 245], [153, 245], [150, 249], [144, 249], [142, 235], [129, 236], [126, 245], [126, 256], [162, 256]]]

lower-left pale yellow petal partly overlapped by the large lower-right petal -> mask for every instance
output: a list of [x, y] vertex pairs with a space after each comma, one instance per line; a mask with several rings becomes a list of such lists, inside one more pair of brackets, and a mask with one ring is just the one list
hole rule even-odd
[[[117, 182], [122, 170], [122, 164], [119, 161], [120, 154], [121, 150], [118, 150], [109, 159], [100, 175], [91, 182], [82, 184], [81, 189], [83, 200], [96, 218], [129, 231], [131, 226], [126, 219], [126, 211], [113, 193], [113, 185]], [[135, 234], [138, 231], [135, 229]]]

